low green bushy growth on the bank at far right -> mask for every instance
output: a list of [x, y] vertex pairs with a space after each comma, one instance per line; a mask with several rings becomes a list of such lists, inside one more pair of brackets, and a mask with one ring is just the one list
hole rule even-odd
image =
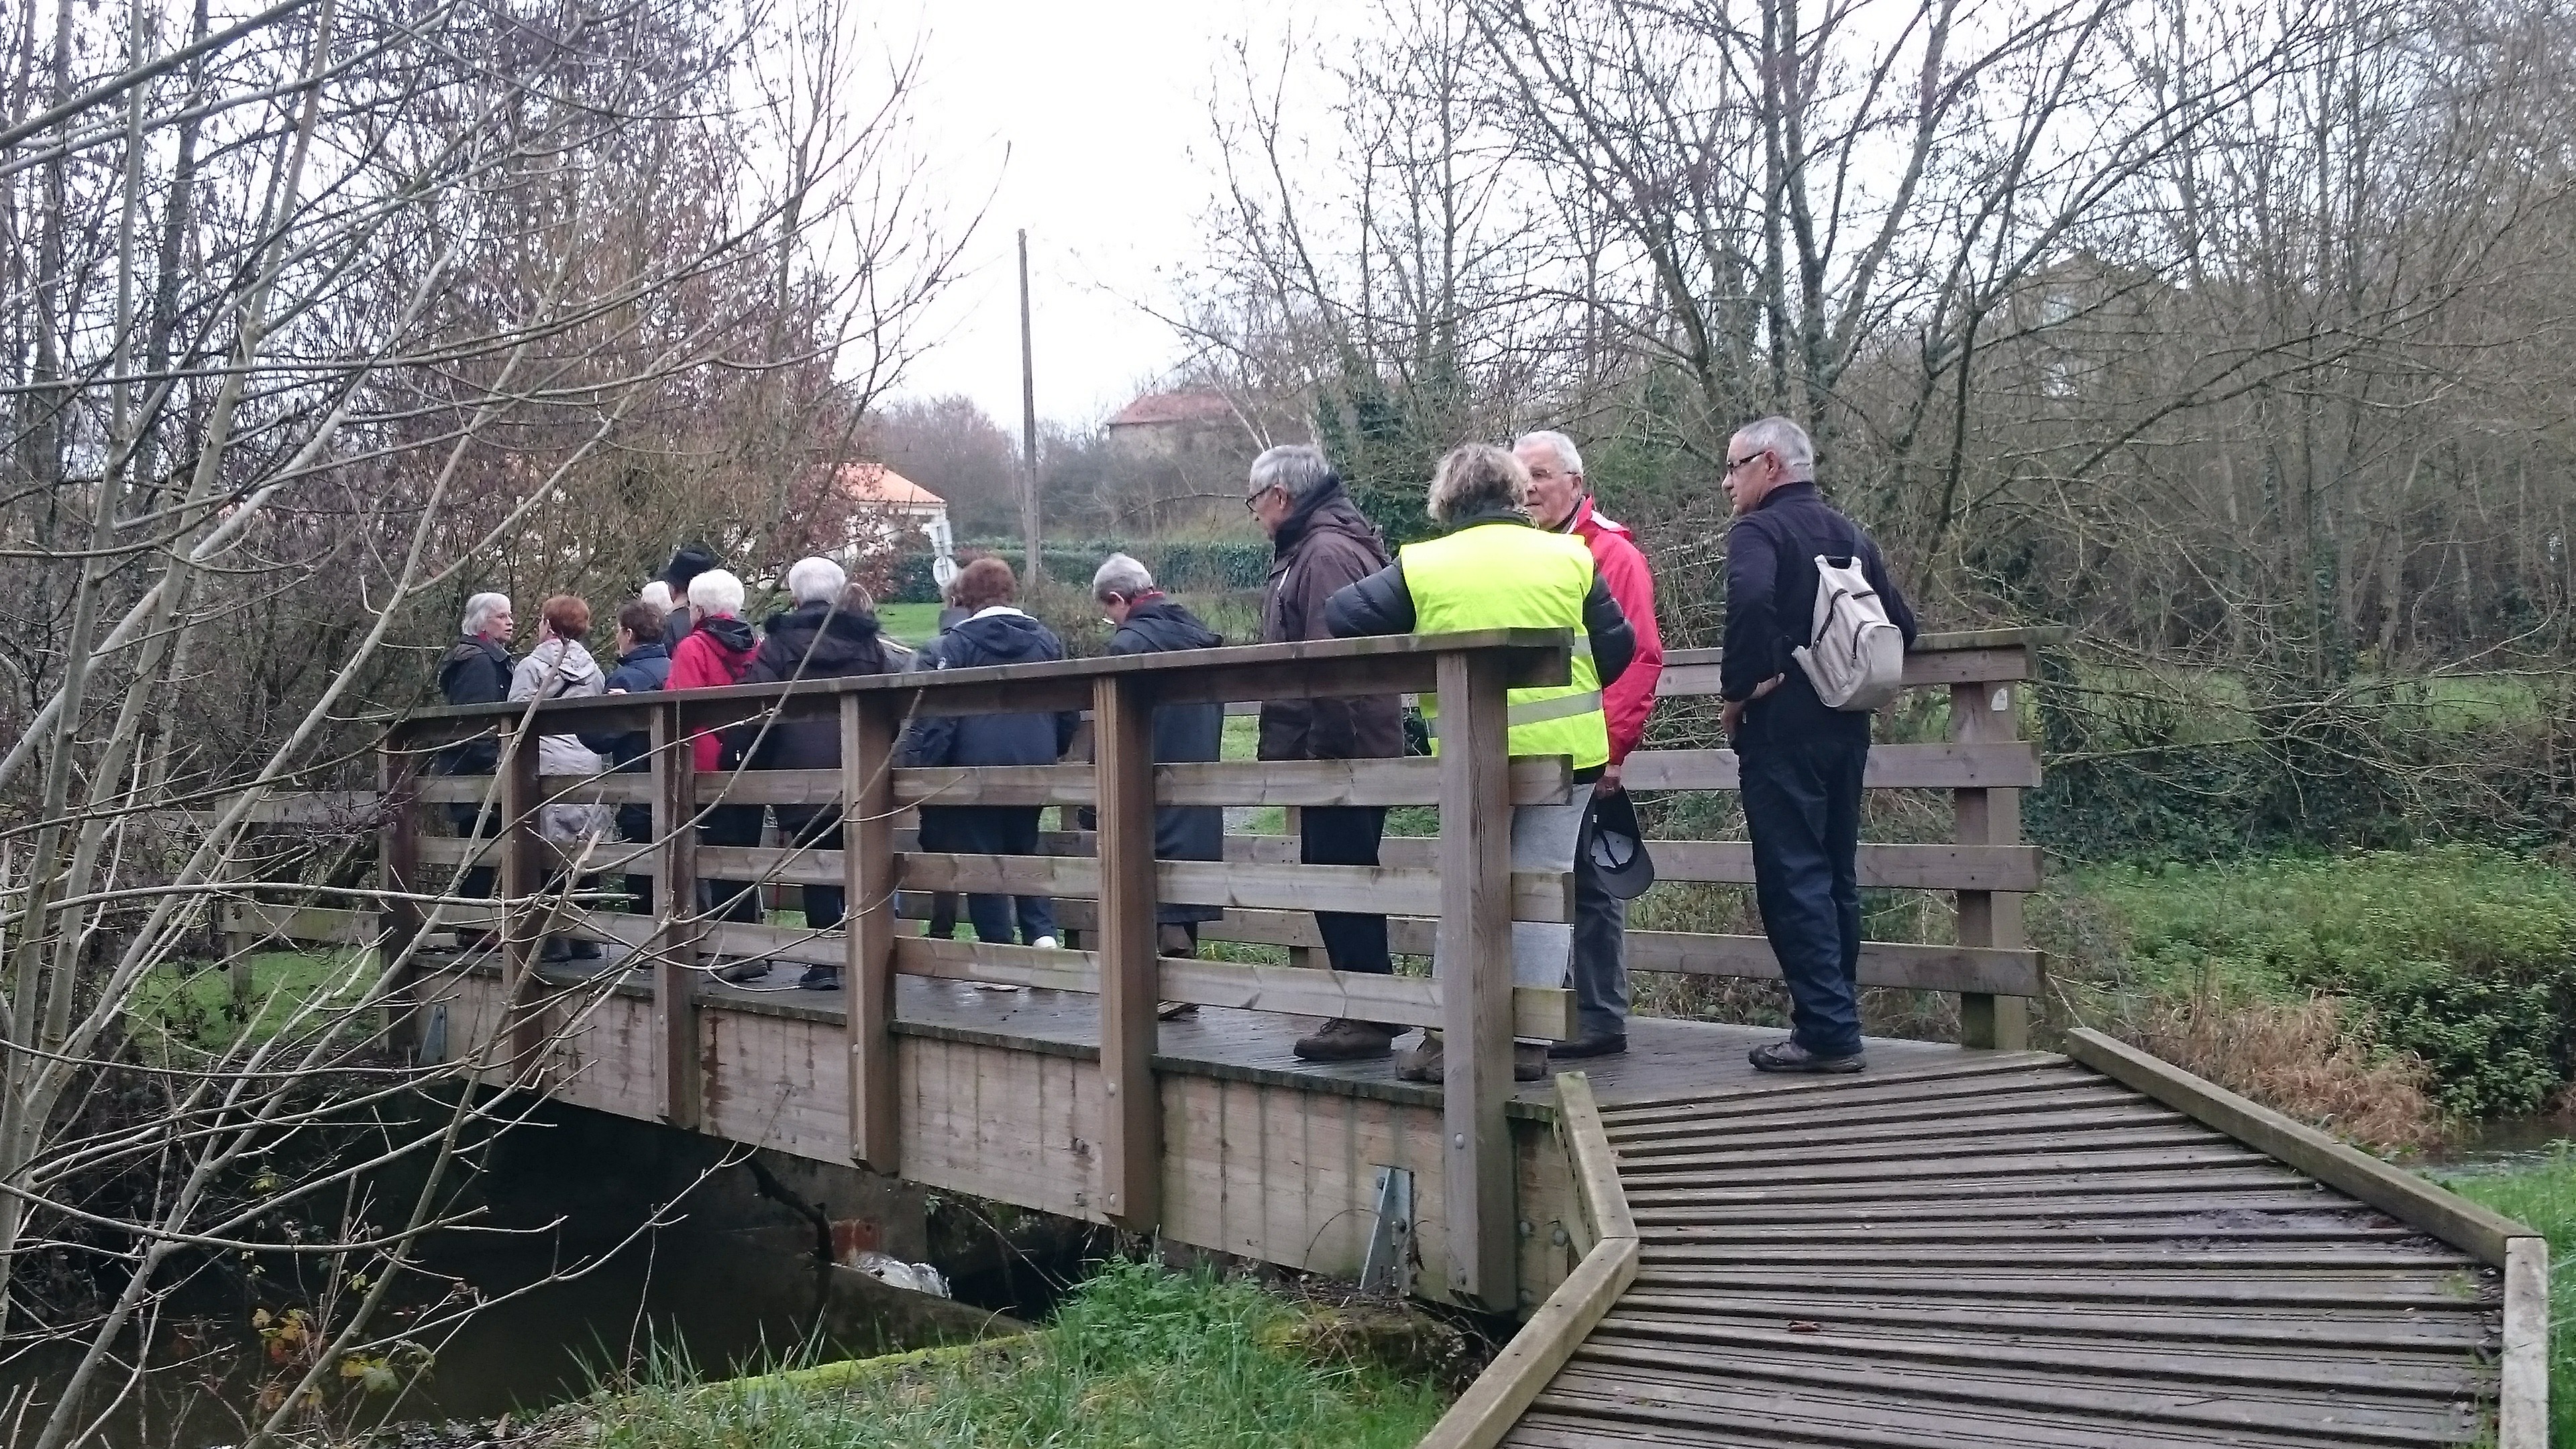
[[2089, 890], [2169, 995], [2344, 998], [2460, 1116], [2537, 1111], [2576, 1073], [2576, 879], [2481, 846], [2110, 866]]

